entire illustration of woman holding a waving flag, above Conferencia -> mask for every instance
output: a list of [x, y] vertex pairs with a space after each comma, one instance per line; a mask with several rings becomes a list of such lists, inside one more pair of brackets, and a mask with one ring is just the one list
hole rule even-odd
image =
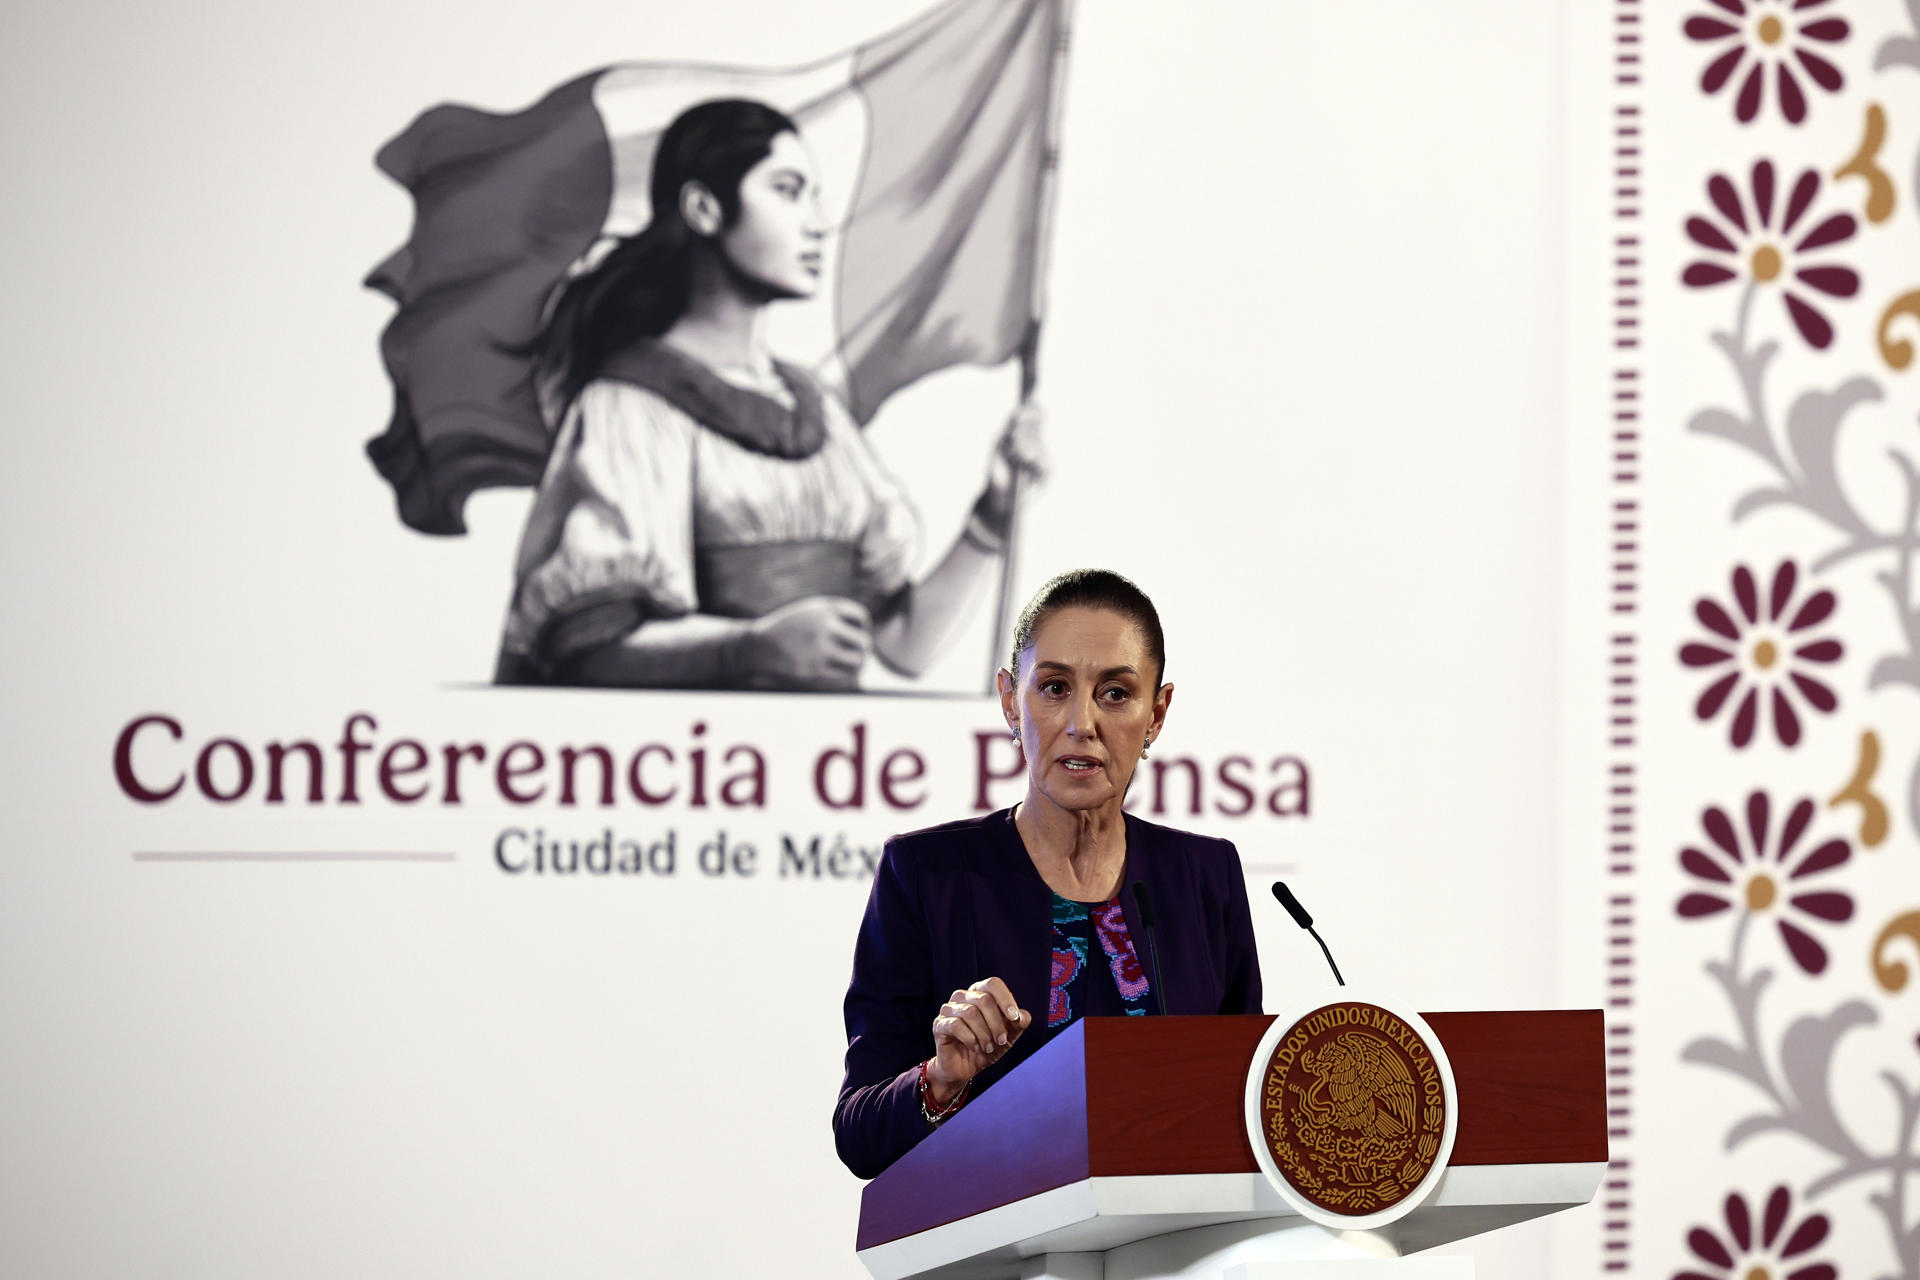
[[[399, 303], [369, 455], [424, 533], [534, 489], [495, 683], [851, 691], [1004, 614], [1043, 474], [1056, 25], [948, 4], [793, 71], [440, 106], [380, 150], [415, 226], [369, 278]], [[870, 445], [895, 391], [1014, 361], [972, 466], [916, 491]]]

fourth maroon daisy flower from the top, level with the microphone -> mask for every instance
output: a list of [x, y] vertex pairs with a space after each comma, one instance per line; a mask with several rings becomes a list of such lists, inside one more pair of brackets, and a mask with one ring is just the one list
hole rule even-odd
[[1853, 846], [1836, 837], [1816, 844], [1805, 856], [1795, 856], [1793, 850], [1807, 835], [1812, 814], [1812, 800], [1801, 798], [1788, 812], [1786, 823], [1780, 825], [1778, 844], [1768, 844], [1772, 802], [1764, 791], [1747, 796], [1745, 833], [1734, 827], [1726, 810], [1709, 804], [1699, 819], [1707, 831], [1709, 848], [1701, 850], [1690, 844], [1680, 850], [1680, 867], [1705, 885], [1705, 889], [1695, 889], [1680, 898], [1676, 910], [1682, 919], [1718, 915], [1736, 904], [1751, 913], [1778, 908], [1780, 940], [1786, 942], [1793, 963], [1807, 973], [1822, 973], [1826, 948], [1789, 915], [1828, 923], [1853, 919], [1851, 896], [1832, 889], [1803, 892], [1805, 887], [1799, 885], [1809, 875], [1832, 871], [1853, 858]]

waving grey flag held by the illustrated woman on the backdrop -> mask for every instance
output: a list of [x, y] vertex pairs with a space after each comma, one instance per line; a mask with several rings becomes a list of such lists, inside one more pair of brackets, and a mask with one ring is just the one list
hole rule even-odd
[[816, 157], [831, 288], [776, 340], [854, 418], [950, 365], [1031, 361], [1064, 46], [1066, 0], [950, 0], [799, 69], [626, 63], [515, 115], [422, 113], [378, 154], [415, 226], [367, 280], [399, 303], [367, 451], [401, 520], [463, 533], [474, 489], [540, 482], [553, 424], [524, 351], [555, 290], [647, 225], [659, 132], [697, 102], [780, 107]]

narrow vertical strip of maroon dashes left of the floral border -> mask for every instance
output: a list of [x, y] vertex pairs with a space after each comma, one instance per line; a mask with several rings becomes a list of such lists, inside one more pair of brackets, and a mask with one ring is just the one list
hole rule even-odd
[[1634, 936], [1640, 737], [1640, 334], [1642, 334], [1642, 0], [1613, 4], [1609, 190], [1609, 537], [1607, 537], [1607, 1176], [1601, 1186], [1601, 1270], [1630, 1270], [1634, 1211]]

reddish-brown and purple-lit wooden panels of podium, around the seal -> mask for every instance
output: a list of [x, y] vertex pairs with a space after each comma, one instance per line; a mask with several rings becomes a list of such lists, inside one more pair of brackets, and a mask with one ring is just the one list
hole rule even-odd
[[[1592, 1188], [1567, 1190], [1572, 1182], [1565, 1171], [1607, 1159], [1601, 1013], [1423, 1017], [1453, 1065], [1459, 1092], [1448, 1176], [1486, 1167], [1459, 1186], [1509, 1188], [1517, 1184], [1513, 1167], [1542, 1167], [1557, 1173], [1546, 1178], [1553, 1190], [1536, 1213], [1590, 1197]], [[1225, 1194], [1229, 1209], [1202, 1215], [1215, 1222], [1281, 1213], [1271, 1188], [1261, 1196], [1261, 1186], [1248, 1180], [1263, 1184], [1242, 1111], [1246, 1073], [1271, 1021], [1081, 1019], [866, 1186], [856, 1247], [866, 1257], [889, 1242], [977, 1215], [1037, 1205], [1048, 1196], [1048, 1203], [1064, 1203], [1066, 1188], [1081, 1184], [1146, 1186], [1091, 1182], [1102, 1178], [1152, 1178], [1156, 1186], [1185, 1188], [1190, 1196], [1181, 1203], [1194, 1213], [1212, 1203], [1208, 1196]], [[1202, 1188], [1212, 1190], [1202, 1194]], [[1488, 1199], [1494, 1194], [1473, 1194], [1459, 1203], [1494, 1203]], [[1455, 1224], [1469, 1221], [1480, 1219], [1455, 1215]], [[1158, 1228], [1177, 1230], [1165, 1222]], [[1440, 1228], [1438, 1236], [1473, 1230], [1488, 1226]], [[1144, 1234], [1152, 1232], [1131, 1238]]]

